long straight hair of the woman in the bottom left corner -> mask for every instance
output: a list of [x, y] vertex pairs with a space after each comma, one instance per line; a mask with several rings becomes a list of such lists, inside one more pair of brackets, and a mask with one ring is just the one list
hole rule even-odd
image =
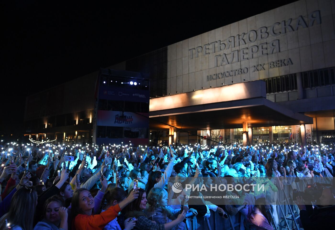
[[23, 230], [32, 230], [36, 204], [37, 192], [35, 187], [17, 190], [12, 197], [8, 213], [0, 219], [0, 229], [7, 229], [7, 226], [5, 226], [5, 220], [7, 219], [12, 227], [17, 225]]

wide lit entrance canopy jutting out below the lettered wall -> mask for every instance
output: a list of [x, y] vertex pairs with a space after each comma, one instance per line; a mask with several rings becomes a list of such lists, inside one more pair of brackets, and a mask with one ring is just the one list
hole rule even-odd
[[[149, 126], [183, 130], [311, 124], [313, 118], [266, 99], [262, 80], [150, 100]], [[171, 126], [169, 126], [171, 125]]]

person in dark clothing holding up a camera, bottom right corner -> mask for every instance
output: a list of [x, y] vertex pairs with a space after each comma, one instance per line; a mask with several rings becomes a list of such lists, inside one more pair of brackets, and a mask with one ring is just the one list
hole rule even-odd
[[331, 188], [325, 188], [319, 198], [320, 205], [305, 205], [302, 196], [297, 197], [296, 204], [300, 210], [300, 220], [305, 230], [332, 229], [332, 218], [335, 216], [334, 194]]

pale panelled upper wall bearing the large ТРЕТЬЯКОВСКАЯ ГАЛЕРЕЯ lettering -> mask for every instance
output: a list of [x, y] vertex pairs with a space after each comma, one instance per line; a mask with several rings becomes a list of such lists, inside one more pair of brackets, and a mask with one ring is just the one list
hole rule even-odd
[[[313, 25], [310, 25], [309, 15], [314, 11], [320, 13], [321, 20], [315, 20]], [[229, 85], [232, 84], [231, 81], [237, 83], [243, 82], [243, 79], [253, 81], [335, 66], [334, 13], [335, 1], [300, 0], [172, 44], [167, 49], [167, 93], [186, 93], [202, 87], [219, 87], [221, 83]], [[317, 14], [314, 13], [313, 16], [316, 17]], [[300, 25], [296, 29], [297, 21], [299, 24], [304, 24], [302, 18], [308, 27], [303, 28]], [[288, 25], [290, 19], [293, 31], [288, 29], [283, 31], [282, 24]], [[278, 24], [275, 24], [276, 22]], [[259, 29], [266, 27], [269, 32], [274, 24], [274, 33], [281, 34], [272, 36], [269, 33], [266, 39], [260, 39]], [[253, 41], [254, 32], [251, 32], [253, 30], [258, 37], [255, 42], [249, 43], [246, 38], [250, 36], [250, 41]], [[242, 38], [243, 33], [245, 45], [243, 42], [241, 44], [238, 42], [238, 38]], [[232, 45], [228, 48], [227, 39], [231, 36], [234, 36], [236, 44], [234, 48]], [[270, 44], [276, 40], [279, 43], [279, 52], [275, 49], [271, 54]], [[226, 46], [223, 51], [218, 51], [219, 41]], [[215, 45], [215, 53], [211, 43]], [[206, 46], [206, 44], [209, 45]], [[266, 47], [267, 50], [263, 53], [268, 54], [260, 56], [257, 53], [250, 58], [250, 49], [255, 50], [255, 46], [258, 46], [259, 50], [261, 47], [263, 49]], [[195, 52], [197, 47], [199, 51], [202, 49], [198, 57]], [[205, 47], [209, 54], [204, 55]], [[238, 61], [236, 58], [230, 61], [233, 56], [232, 51], [238, 51]], [[244, 55], [244, 58], [248, 57], [247, 60], [241, 61], [241, 52], [248, 52], [248, 55]], [[223, 53], [226, 54], [227, 61], [220, 65]], [[276, 64], [282, 66], [276, 67]], [[241, 72], [239, 69], [244, 68], [248, 68], [248, 72], [238, 74]], [[229, 76], [229, 74], [234, 75], [230, 72], [232, 70], [237, 70], [235, 76]], [[246, 72], [246, 69], [244, 70]], [[212, 80], [208, 79], [210, 76]]]

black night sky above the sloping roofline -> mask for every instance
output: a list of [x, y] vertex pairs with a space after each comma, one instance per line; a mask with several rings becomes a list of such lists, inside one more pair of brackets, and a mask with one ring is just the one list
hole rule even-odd
[[69, 2], [0, 3], [1, 132], [22, 130], [27, 95], [293, 1]]

